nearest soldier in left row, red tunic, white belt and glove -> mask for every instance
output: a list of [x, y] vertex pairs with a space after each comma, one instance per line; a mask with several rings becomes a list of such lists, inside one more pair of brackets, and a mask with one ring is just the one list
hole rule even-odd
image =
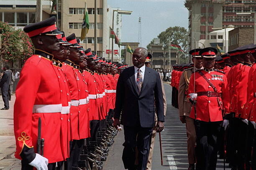
[[[55, 17], [27, 25], [24, 31], [28, 33], [36, 50], [23, 66], [16, 89], [15, 157], [22, 159], [22, 170], [32, 170], [33, 167], [38, 170], [59, 170], [69, 153], [67, 145], [64, 144], [69, 142], [68, 137], [61, 136], [66, 135], [65, 133], [70, 130], [67, 115], [69, 98], [64, 99], [66, 96], [61, 94], [61, 91], [67, 91], [66, 84], [61, 81], [65, 77], [58, 78], [59, 72], [56, 71], [58, 67], [54, 65], [52, 55], [60, 51], [56, 35], [61, 32], [56, 28]], [[61, 60], [63, 56], [58, 57], [57, 59]], [[41, 119], [39, 137], [44, 139], [42, 152], [40, 152], [41, 148], [37, 148], [41, 143], [37, 139], [40, 135], [38, 134], [39, 118]]]

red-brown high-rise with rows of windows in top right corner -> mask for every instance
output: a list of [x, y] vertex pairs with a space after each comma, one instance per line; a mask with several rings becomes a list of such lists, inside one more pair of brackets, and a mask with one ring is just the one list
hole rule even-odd
[[[237, 15], [237, 13], [251, 13]], [[223, 5], [223, 27], [234, 25], [237, 27], [254, 27], [254, 13], [256, 0], [225, 0]]]

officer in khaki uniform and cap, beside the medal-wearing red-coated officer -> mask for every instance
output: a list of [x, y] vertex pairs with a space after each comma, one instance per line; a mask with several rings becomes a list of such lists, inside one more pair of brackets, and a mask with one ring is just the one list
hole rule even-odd
[[199, 55], [200, 48], [189, 51], [192, 55], [192, 61], [195, 67], [186, 69], [183, 71], [182, 76], [179, 81], [179, 117], [182, 123], [186, 123], [187, 129], [187, 153], [189, 160], [188, 170], [195, 170], [195, 142], [196, 142], [196, 132], [194, 126], [194, 119], [190, 118], [190, 111], [192, 109], [192, 104], [187, 99], [187, 89], [189, 87], [189, 80], [191, 73], [194, 70], [203, 69], [202, 67], [202, 57]]

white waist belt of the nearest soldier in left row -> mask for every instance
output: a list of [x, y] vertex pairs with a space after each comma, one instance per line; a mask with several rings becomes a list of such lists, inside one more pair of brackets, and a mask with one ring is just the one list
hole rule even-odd
[[62, 110], [62, 104], [35, 104], [33, 113], [59, 113]]

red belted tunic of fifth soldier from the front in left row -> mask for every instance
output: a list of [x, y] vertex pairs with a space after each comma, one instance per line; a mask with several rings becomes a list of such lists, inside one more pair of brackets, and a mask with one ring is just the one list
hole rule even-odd
[[98, 105], [100, 104], [97, 101], [97, 91], [98, 87], [93, 76], [93, 72], [89, 69], [85, 69], [83, 72], [84, 80], [87, 82], [88, 95], [89, 95], [89, 120], [99, 120], [99, 111]]

